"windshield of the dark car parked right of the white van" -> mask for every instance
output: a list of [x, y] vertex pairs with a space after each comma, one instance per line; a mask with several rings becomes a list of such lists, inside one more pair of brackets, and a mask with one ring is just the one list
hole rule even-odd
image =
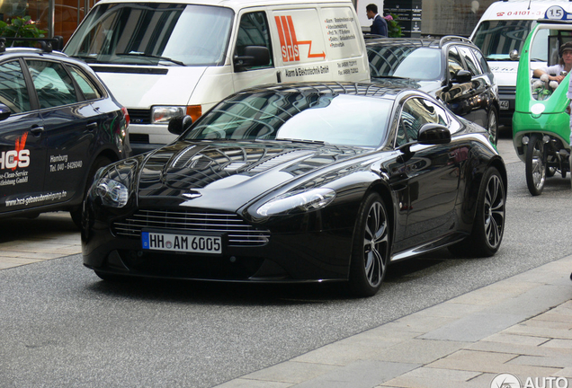
[[[402, 45], [369, 46], [372, 77], [394, 76], [418, 81], [441, 78], [441, 50]], [[423, 64], [423, 66], [420, 66]]]

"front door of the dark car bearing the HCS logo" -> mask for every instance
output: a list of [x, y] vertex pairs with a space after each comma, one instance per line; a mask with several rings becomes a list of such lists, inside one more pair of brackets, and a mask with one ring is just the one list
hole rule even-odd
[[10, 116], [0, 121], [0, 212], [45, 205], [43, 122], [19, 59], [0, 64], [0, 103]]

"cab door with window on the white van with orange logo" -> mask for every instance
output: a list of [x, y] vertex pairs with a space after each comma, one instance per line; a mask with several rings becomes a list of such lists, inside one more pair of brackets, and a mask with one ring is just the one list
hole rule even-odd
[[[269, 51], [269, 61], [261, 66], [238, 67], [237, 57], [245, 55], [248, 46], [265, 47]], [[235, 92], [257, 84], [275, 84], [278, 79], [273, 63], [273, 46], [266, 13], [263, 10], [243, 13], [237, 30], [237, 40], [233, 50]]]

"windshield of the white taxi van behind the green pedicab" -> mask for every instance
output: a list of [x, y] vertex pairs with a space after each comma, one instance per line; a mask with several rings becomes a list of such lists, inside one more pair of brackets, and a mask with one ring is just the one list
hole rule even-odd
[[[485, 21], [478, 25], [473, 42], [489, 61], [510, 60], [510, 53], [523, 50], [524, 40], [532, 29], [532, 20]], [[534, 48], [533, 48], [534, 49]], [[535, 50], [535, 59], [546, 61], [546, 46]]]

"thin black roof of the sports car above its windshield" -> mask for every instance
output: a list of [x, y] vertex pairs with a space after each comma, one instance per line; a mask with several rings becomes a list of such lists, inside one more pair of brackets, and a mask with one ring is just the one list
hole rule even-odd
[[416, 94], [425, 93], [417, 91], [415, 88], [403, 85], [379, 84], [379, 83], [344, 83], [344, 82], [326, 82], [326, 83], [291, 83], [291, 84], [267, 84], [258, 87], [242, 90], [237, 94], [243, 93], [337, 93], [358, 95], [365, 97], [374, 97], [380, 99], [395, 100], [400, 93], [411, 92]]

